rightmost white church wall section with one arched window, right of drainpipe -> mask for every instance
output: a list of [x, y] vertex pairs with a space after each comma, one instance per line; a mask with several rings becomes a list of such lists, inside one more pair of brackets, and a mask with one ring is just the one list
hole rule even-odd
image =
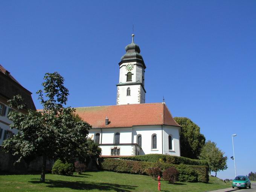
[[[172, 149], [169, 150], [169, 135], [172, 137]], [[180, 156], [180, 133], [175, 126], [163, 126], [163, 154]]]

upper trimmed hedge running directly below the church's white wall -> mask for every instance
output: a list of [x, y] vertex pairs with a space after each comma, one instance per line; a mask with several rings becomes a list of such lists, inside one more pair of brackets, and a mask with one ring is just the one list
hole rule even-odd
[[205, 160], [197, 160], [186, 157], [178, 157], [172, 155], [162, 155], [162, 154], [147, 154], [147, 155], [137, 155], [132, 157], [120, 157], [123, 160], [133, 160], [133, 161], [141, 161], [141, 162], [161, 162], [170, 163], [174, 165], [205, 165], [209, 166], [207, 161]]

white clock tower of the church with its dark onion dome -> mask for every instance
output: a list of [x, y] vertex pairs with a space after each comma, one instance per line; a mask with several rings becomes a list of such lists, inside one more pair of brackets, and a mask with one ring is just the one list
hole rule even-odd
[[117, 84], [117, 105], [145, 103], [145, 63], [140, 47], [134, 43], [125, 47], [126, 53], [119, 62], [119, 84]]

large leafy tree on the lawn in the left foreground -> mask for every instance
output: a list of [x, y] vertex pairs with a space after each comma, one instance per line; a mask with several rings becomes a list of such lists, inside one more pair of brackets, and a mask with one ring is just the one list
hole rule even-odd
[[[10, 128], [17, 128], [18, 134], [3, 142], [4, 150], [29, 159], [42, 156], [41, 181], [45, 181], [47, 159], [71, 162], [87, 151], [87, 135], [91, 126], [74, 115], [74, 108], [64, 107], [69, 91], [64, 87], [64, 78], [55, 73], [46, 73], [43, 90], [37, 91], [42, 111], [28, 110], [26, 114], [11, 111], [13, 121]], [[25, 107], [21, 96], [9, 100], [11, 107], [19, 110]]]

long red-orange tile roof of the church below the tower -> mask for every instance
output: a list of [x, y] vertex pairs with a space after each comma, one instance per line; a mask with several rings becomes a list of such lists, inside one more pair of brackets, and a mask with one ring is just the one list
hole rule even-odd
[[[78, 107], [76, 114], [93, 128], [132, 127], [136, 125], [179, 126], [164, 103]], [[105, 125], [108, 117], [109, 124]]]

